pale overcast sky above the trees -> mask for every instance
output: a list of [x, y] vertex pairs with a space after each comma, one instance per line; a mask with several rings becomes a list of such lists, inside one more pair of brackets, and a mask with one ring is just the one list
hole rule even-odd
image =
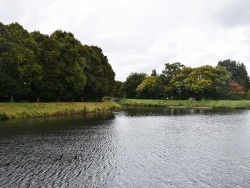
[[28, 31], [72, 32], [103, 49], [125, 81], [165, 63], [217, 65], [232, 59], [250, 73], [249, 0], [0, 0], [0, 22]]

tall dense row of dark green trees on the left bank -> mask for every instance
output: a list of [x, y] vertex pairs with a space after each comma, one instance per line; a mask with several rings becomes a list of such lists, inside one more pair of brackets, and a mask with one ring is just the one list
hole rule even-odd
[[9, 101], [100, 101], [113, 91], [115, 73], [96, 46], [70, 32], [29, 33], [0, 23], [0, 97]]

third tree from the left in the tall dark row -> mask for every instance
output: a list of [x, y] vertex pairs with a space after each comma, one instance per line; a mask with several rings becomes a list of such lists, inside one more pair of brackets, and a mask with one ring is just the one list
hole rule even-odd
[[55, 62], [58, 62], [60, 67], [58, 80], [61, 87], [56, 93], [57, 100], [59, 100], [59, 96], [76, 97], [86, 84], [86, 76], [83, 71], [85, 59], [80, 55], [82, 44], [75, 39], [72, 33], [61, 30], [55, 31], [51, 38], [59, 45], [59, 54]]

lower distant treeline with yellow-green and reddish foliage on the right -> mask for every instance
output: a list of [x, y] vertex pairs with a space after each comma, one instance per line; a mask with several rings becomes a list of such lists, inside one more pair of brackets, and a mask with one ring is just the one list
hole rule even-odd
[[138, 99], [246, 99], [249, 76], [243, 63], [219, 61], [216, 67], [191, 68], [166, 63], [161, 74], [131, 73], [124, 83], [116, 82], [114, 95]]

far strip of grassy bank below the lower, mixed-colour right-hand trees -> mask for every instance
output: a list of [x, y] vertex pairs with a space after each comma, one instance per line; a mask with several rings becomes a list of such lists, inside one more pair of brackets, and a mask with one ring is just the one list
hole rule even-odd
[[118, 103], [122, 106], [149, 106], [149, 107], [189, 107], [189, 108], [221, 108], [221, 109], [250, 109], [250, 100], [144, 100], [121, 99]]

